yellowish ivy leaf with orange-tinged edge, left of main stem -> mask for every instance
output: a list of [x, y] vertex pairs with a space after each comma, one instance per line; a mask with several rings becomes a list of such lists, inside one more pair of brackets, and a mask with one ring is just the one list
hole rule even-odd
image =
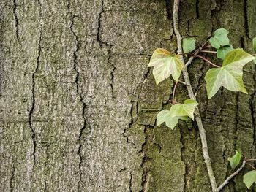
[[154, 66], [153, 75], [157, 85], [159, 82], [167, 79], [170, 74], [174, 80], [178, 81], [181, 71], [184, 68], [180, 55], [172, 56], [169, 51], [162, 48], [154, 51], [148, 64], [148, 67], [150, 66]]

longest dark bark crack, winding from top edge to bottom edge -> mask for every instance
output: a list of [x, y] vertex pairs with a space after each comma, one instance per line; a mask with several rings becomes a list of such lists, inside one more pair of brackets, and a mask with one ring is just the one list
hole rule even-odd
[[71, 18], [71, 25], [70, 25], [70, 31], [72, 32], [72, 35], [75, 37], [75, 51], [73, 53], [73, 70], [76, 72], [76, 77], [75, 77], [75, 85], [76, 85], [76, 92], [77, 95], [79, 96], [80, 100], [79, 102], [81, 102], [81, 104], [83, 105], [83, 109], [82, 109], [82, 117], [83, 117], [83, 127], [80, 128], [80, 134], [78, 137], [78, 142], [79, 142], [79, 147], [78, 147], [78, 155], [80, 157], [80, 162], [78, 165], [79, 171], [80, 171], [80, 176], [79, 176], [79, 180], [78, 180], [78, 191], [80, 191], [80, 183], [82, 181], [82, 162], [83, 162], [83, 158], [82, 158], [82, 154], [81, 154], [81, 150], [82, 150], [82, 137], [83, 137], [83, 131], [86, 129], [86, 118], [85, 118], [85, 111], [86, 111], [86, 103], [83, 101], [83, 93], [82, 91], [79, 91], [80, 85], [79, 85], [79, 77], [80, 77], [80, 73], [78, 70], [78, 53], [80, 50], [80, 43], [78, 41], [78, 35], [75, 34], [74, 31], [74, 23], [75, 23], [75, 18], [78, 17], [77, 15], [72, 14], [71, 10], [70, 10], [70, 0], [68, 0], [68, 5], [67, 5], [67, 9], [69, 12], [69, 15], [72, 15]]

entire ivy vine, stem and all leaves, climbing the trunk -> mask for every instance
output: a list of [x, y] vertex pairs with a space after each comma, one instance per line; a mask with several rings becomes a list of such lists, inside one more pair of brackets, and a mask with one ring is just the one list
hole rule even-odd
[[[227, 37], [229, 33], [225, 28], [219, 28], [214, 31], [214, 36], [212, 36], [208, 41], [203, 43], [199, 48], [196, 49], [194, 38], [183, 38], [181, 39], [181, 34], [178, 30], [178, 7], [179, 0], [174, 0], [173, 4], [173, 29], [177, 39], [178, 51], [175, 55], [165, 50], [164, 48], [157, 48], [151, 56], [148, 67], [154, 66], [153, 75], [158, 85], [159, 82], [170, 77], [176, 81], [173, 88], [172, 105], [170, 110], [161, 110], [157, 114], [157, 126], [165, 123], [170, 129], [174, 129], [178, 124], [178, 120], [187, 120], [188, 118], [195, 120], [197, 123], [198, 131], [200, 134], [200, 140], [202, 143], [202, 152], [204, 162], [206, 164], [206, 169], [208, 172], [208, 177], [211, 183], [211, 189], [213, 192], [222, 190], [222, 188], [229, 183], [229, 181], [238, 174], [246, 164], [251, 166], [252, 171], [244, 174], [243, 181], [247, 188], [250, 188], [253, 183], [256, 183], [256, 169], [247, 161], [255, 161], [255, 158], [245, 158], [243, 164], [231, 174], [227, 179], [219, 185], [217, 188], [217, 183], [214, 177], [214, 172], [211, 167], [211, 158], [208, 155], [208, 146], [206, 139], [206, 130], [203, 128], [203, 122], [200, 117], [200, 110], [198, 109], [196, 101], [197, 93], [192, 90], [192, 85], [190, 83], [189, 74], [187, 72], [187, 67], [192, 64], [195, 58], [203, 59], [214, 69], [208, 69], [206, 72], [206, 91], [208, 99], [211, 99], [218, 91], [219, 88], [224, 87], [230, 91], [241, 91], [242, 93], [247, 93], [243, 82], [243, 67], [250, 61], [254, 61], [256, 64], [256, 57], [249, 53], [246, 53], [241, 48], [234, 49], [230, 45], [230, 40]], [[208, 45], [211, 44], [211, 46]], [[254, 51], [256, 52], [256, 37], [252, 41]], [[206, 48], [214, 48], [214, 50], [206, 50]], [[193, 53], [192, 53], [193, 51]], [[217, 56], [217, 58], [222, 59], [222, 66], [216, 65], [209, 61], [200, 53], [211, 53]], [[184, 55], [189, 56], [187, 63], [185, 63]], [[180, 79], [181, 74], [183, 74], [184, 82]], [[178, 82], [187, 86], [187, 92], [190, 99], [186, 99], [183, 104], [175, 101], [175, 93]], [[227, 158], [230, 161], [230, 166], [235, 169], [241, 162], [242, 153], [236, 150], [236, 154], [233, 157]]]

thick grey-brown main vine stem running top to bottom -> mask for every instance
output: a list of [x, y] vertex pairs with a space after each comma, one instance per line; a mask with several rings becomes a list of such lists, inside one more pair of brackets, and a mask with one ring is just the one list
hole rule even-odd
[[[181, 34], [178, 30], [178, 6], [179, 6], [179, 0], [174, 0], [174, 4], [173, 4], [173, 29], [174, 29], [174, 33], [175, 33], [176, 39], [177, 39], [178, 53], [182, 53]], [[194, 54], [196, 55], [198, 53], [194, 53]], [[185, 65], [184, 69], [182, 70], [182, 74], [183, 74], [184, 80], [187, 84], [187, 91], [189, 93], [190, 99], [196, 100], [194, 91], [192, 90], [192, 85], [190, 83], [189, 73], [187, 72], [187, 66], [193, 61], [193, 59], [194, 59], [194, 57], [189, 58], [189, 61]], [[183, 55], [181, 55], [181, 62], [183, 62], [185, 64]], [[202, 123], [202, 120], [201, 120], [201, 117], [200, 117], [200, 112], [199, 112], [198, 107], [195, 107], [195, 112], [194, 113], [195, 113], [195, 120], [197, 122], [198, 130], [199, 130], [199, 134], [200, 134], [200, 139], [201, 139], [201, 142], [202, 142], [203, 158], [204, 158], [205, 163], [206, 163], [206, 168], [207, 168], [207, 171], [208, 171], [208, 177], [209, 177], [210, 183], [211, 183], [211, 189], [212, 189], [213, 192], [216, 192], [217, 191], [217, 184], [216, 184], [216, 180], [215, 180], [215, 177], [214, 177], [214, 171], [211, 167], [211, 158], [209, 157], [209, 154], [208, 154], [208, 146], [207, 146], [207, 140], [206, 140], [206, 130], [203, 128], [203, 123]]]

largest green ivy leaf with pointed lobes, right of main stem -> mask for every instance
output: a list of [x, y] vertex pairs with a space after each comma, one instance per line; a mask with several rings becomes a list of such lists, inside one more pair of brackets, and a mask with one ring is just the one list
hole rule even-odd
[[254, 56], [244, 52], [243, 49], [231, 50], [227, 53], [222, 67], [210, 69], [206, 73], [208, 99], [211, 99], [222, 86], [230, 91], [247, 93], [243, 82], [243, 67], [254, 59]]

